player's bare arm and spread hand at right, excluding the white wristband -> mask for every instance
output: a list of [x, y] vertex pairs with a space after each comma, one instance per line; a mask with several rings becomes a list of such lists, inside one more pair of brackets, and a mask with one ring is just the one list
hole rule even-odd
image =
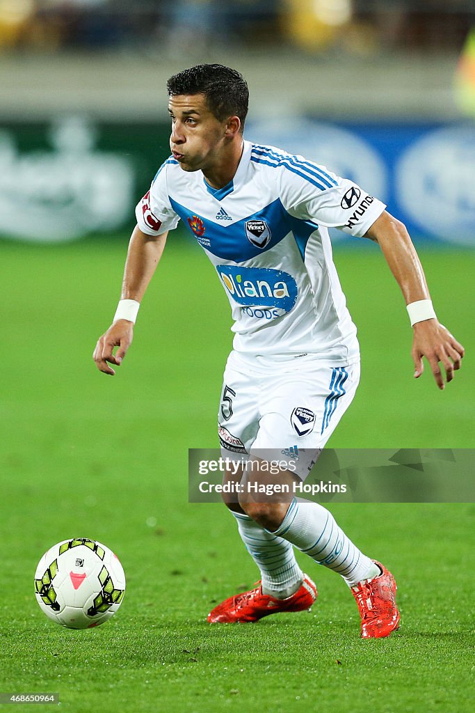
[[[385, 211], [367, 231], [367, 236], [379, 243], [406, 304], [430, 299], [422, 265], [404, 224]], [[444, 376], [439, 364], [444, 367], [447, 381], [451, 381], [454, 371], [460, 369], [464, 347], [436, 318], [417, 322], [413, 330], [414, 377], [419, 378], [424, 371], [422, 357], [425, 356], [437, 386], [444, 389]]]

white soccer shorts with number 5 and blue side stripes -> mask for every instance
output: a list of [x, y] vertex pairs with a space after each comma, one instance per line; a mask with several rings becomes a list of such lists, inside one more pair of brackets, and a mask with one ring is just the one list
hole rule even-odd
[[231, 352], [218, 414], [223, 458], [291, 462], [289, 469], [305, 480], [359, 381], [359, 362], [332, 367], [311, 354]]

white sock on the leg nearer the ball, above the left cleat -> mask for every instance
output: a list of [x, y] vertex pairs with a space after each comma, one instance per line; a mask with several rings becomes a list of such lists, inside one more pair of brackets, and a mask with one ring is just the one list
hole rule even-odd
[[303, 581], [291, 543], [267, 532], [248, 515], [231, 514], [238, 523], [241, 540], [259, 567], [263, 593], [276, 599], [291, 597]]

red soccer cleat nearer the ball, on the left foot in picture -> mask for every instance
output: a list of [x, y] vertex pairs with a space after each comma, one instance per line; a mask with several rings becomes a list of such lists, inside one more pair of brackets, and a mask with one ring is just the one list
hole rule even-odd
[[317, 598], [317, 588], [307, 575], [303, 575], [301, 587], [287, 599], [276, 599], [262, 593], [262, 587], [249, 592], [236, 594], [221, 602], [209, 612], [208, 621], [211, 624], [231, 624], [239, 622], [256, 622], [269, 614], [278, 612], [301, 612], [310, 609]]

